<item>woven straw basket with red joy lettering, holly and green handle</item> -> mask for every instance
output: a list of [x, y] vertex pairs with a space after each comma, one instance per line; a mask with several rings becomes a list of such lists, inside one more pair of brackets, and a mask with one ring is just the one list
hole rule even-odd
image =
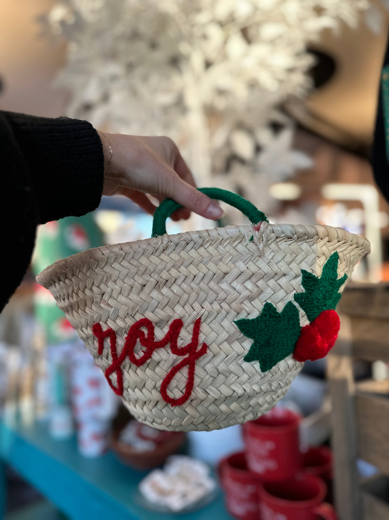
[[[318, 314], [295, 295], [335, 308], [328, 287], [339, 297], [370, 249], [343, 229], [269, 224], [233, 193], [202, 191], [254, 225], [166, 235], [180, 207], [166, 200], [153, 238], [70, 256], [37, 277], [131, 414], [160, 430], [216, 430], [271, 409], [303, 366], [293, 348]], [[329, 281], [304, 290], [303, 276]]]

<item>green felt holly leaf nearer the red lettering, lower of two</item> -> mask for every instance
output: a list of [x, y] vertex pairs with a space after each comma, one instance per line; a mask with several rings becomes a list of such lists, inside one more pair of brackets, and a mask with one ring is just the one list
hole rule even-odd
[[235, 323], [245, 336], [254, 340], [244, 360], [259, 361], [262, 372], [293, 352], [301, 331], [299, 311], [292, 302], [288, 302], [281, 313], [273, 304], [266, 303], [257, 318]]

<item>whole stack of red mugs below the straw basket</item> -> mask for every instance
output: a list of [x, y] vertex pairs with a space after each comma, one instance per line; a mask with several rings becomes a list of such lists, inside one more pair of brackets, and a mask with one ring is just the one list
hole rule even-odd
[[300, 451], [301, 417], [276, 407], [243, 424], [245, 451], [219, 463], [229, 513], [238, 520], [336, 520], [328, 500], [331, 450]]

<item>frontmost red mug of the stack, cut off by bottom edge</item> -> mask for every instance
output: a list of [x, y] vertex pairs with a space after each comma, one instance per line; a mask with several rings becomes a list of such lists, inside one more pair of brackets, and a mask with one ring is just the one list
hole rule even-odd
[[334, 508], [323, 502], [323, 480], [300, 474], [287, 482], [258, 486], [261, 520], [337, 520]]

